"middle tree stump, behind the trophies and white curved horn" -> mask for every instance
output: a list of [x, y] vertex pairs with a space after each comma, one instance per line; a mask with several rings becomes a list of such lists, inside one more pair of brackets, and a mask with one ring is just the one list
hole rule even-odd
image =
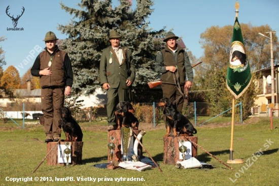
[[[133, 133], [137, 136], [141, 131], [139, 130], [133, 130]], [[113, 154], [113, 160], [115, 161], [121, 161], [122, 160], [122, 154], [121, 154], [121, 130], [112, 130], [108, 132], [108, 144], [111, 142], [110, 137], [113, 136], [115, 139], [113, 143], [115, 144], [115, 150]], [[133, 135], [132, 135], [133, 136]], [[133, 146], [133, 143], [136, 139], [133, 137], [133, 140], [131, 140], [131, 144]], [[143, 139], [141, 139], [141, 143]], [[143, 156], [143, 147], [138, 144], [137, 146], [137, 155]], [[110, 149], [108, 148], [108, 162], [111, 161], [111, 155], [110, 155]]]

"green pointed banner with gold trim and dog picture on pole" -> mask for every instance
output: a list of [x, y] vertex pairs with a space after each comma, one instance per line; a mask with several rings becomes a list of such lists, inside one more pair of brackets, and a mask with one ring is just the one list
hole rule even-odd
[[246, 56], [238, 18], [235, 18], [231, 40], [230, 58], [227, 70], [227, 88], [235, 99], [247, 90], [251, 83], [251, 70]]

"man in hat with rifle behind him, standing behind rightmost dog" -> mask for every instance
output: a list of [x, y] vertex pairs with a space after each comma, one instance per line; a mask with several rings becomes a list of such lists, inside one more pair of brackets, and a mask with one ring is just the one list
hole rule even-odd
[[[189, 89], [193, 81], [193, 69], [187, 52], [176, 43], [178, 37], [169, 32], [163, 40], [165, 48], [158, 52], [155, 63], [155, 71], [162, 73], [163, 97], [176, 104], [177, 110], [182, 111], [184, 99], [177, 85], [184, 94], [185, 88]], [[176, 81], [173, 78], [176, 77]]]

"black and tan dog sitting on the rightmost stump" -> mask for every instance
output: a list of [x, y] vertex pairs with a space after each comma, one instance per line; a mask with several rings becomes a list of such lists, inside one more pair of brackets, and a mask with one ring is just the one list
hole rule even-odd
[[192, 123], [180, 112], [177, 111], [175, 105], [168, 98], [162, 98], [158, 106], [163, 107], [163, 113], [166, 116], [167, 134], [169, 136], [170, 129], [173, 129], [173, 136], [177, 136], [179, 131], [180, 136], [192, 136], [197, 133]]

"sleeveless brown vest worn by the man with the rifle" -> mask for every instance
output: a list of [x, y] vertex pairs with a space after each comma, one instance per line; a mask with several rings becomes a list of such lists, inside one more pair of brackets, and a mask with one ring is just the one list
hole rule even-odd
[[[186, 73], [185, 73], [185, 66], [184, 66], [184, 50], [179, 45], [177, 45], [178, 51], [175, 53], [177, 55], [177, 63], [175, 57], [173, 56], [173, 52], [169, 50], [169, 48], [165, 47], [165, 49], [161, 50], [164, 58], [164, 66], [174, 66], [177, 67], [179, 72], [179, 83], [185, 84], [186, 81]], [[175, 73], [177, 75], [177, 72]], [[175, 84], [175, 80], [173, 79], [173, 73], [167, 71], [163, 73], [161, 76], [162, 82], [167, 84]]]

